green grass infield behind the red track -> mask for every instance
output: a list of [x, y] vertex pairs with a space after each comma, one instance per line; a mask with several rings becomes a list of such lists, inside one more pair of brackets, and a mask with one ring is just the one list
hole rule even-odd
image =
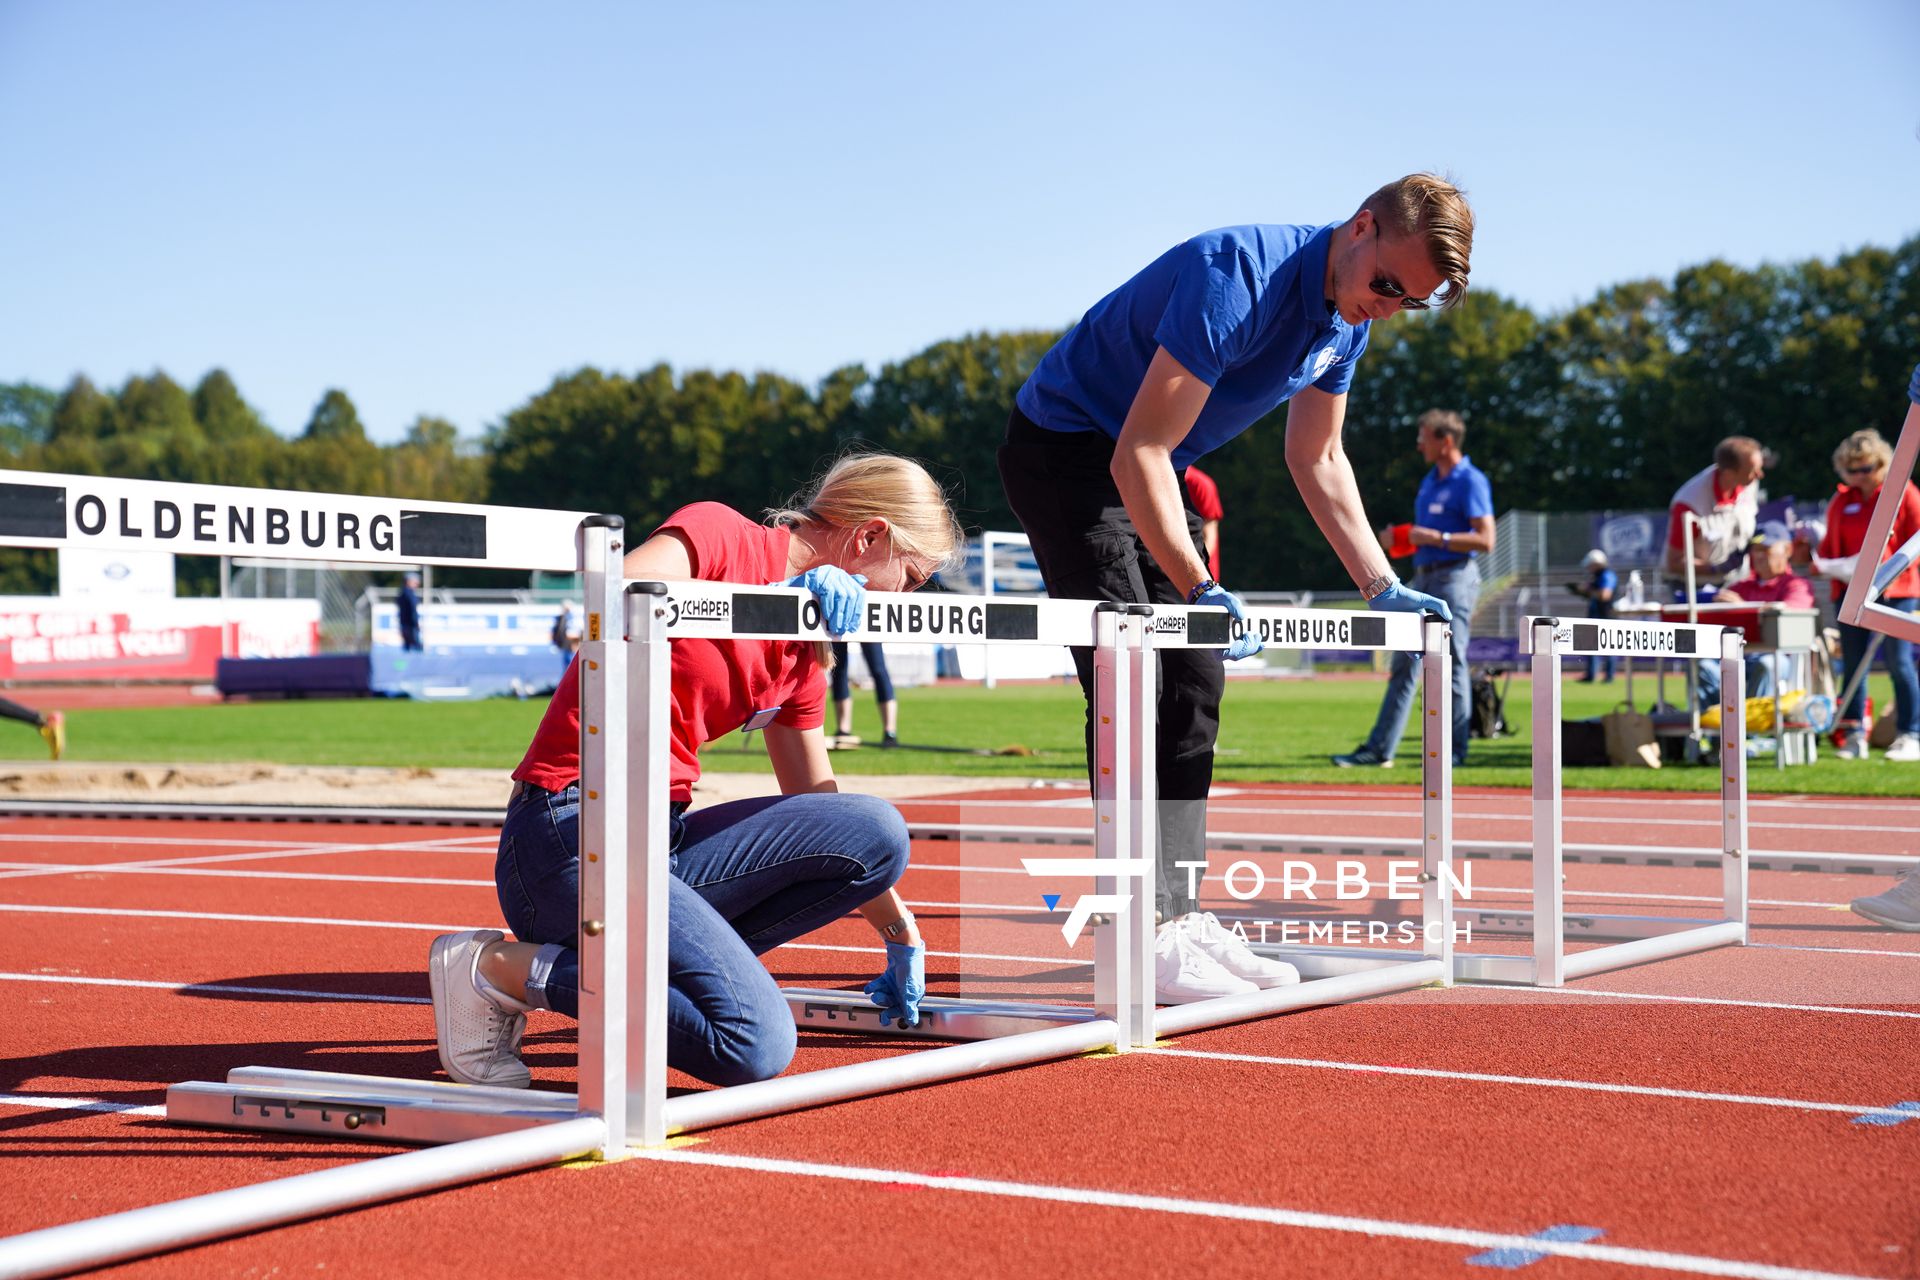
[[[1352, 750], [1380, 704], [1384, 677], [1329, 676], [1317, 679], [1235, 679], [1221, 714], [1219, 781], [1267, 783], [1411, 783], [1419, 752], [1413, 739], [1394, 768], [1342, 770], [1329, 756]], [[1672, 681], [1668, 685], [1672, 689]], [[1642, 706], [1651, 679], [1636, 681]], [[1887, 706], [1891, 689], [1876, 676], [1872, 697]], [[1624, 683], [1567, 681], [1569, 718], [1599, 716], [1624, 697]], [[1417, 704], [1415, 704], [1417, 706]], [[497, 768], [518, 764], [543, 700], [407, 702], [384, 699], [240, 702], [217, 706], [73, 710], [67, 714], [69, 760], [79, 762], [263, 762], [290, 766]], [[1507, 697], [1511, 737], [1475, 739], [1459, 785], [1526, 787], [1532, 781], [1530, 695], [1524, 672]], [[1419, 725], [1415, 716], [1411, 725]], [[1079, 687], [1020, 683], [981, 689], [937, 685], [900, 691], [899, 750], [881, 750], [872, 693], [854, 691], [856, 750], [833, 752], [843, 775], [947, 773], [962, 777], [1077, 779], [1081, 758]], [[8, 735], [0, 752], [33, 758], [31, 737]], [[758, 737], [728, 735], [705, 756], [712, 771], [764, 771]], [[1565, 771], [1571, 789], [1713, 791], [1713, 768], [1668, 764], [1661, 770], [1578, 768]], [[1749, 762], [1751, 791], [1820, 794], [1920, 794], [1920, 764], [1836, 760], [1822, 750], [1818, 764], [1778, 770], [1772, 756]]]

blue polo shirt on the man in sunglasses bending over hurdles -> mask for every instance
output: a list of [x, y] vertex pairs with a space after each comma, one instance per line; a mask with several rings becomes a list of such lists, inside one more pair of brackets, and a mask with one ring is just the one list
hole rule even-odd
[[1158, 347], [1212, 393], [1173, 449], [1181, 468], [1300, 388], [1354, 382], [1367, 324], [1327, 305], [1327, 226], [1221, 226], [1177, 244], [1102, 297], [1041, 357], [1014, 403], [1052, 432], [1119, 439]]

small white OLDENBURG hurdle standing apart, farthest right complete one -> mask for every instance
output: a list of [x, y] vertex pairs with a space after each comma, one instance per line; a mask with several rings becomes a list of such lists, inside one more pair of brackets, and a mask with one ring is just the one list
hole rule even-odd
[[[1534, 906], [1498, 912], [1532, 935], [1530, 956], [1457, 952], [1453, 971], [1482, 983], [1563, 986], [1569, 979], [1747, 942], [1747, 681], [1738, 628], [1682, 622], [1521, 620], [1521, 652], [1532, 656], [1534, 693]], [[1586, 654], [1692, 658], [1720, 664], [1720, 917], [1582, 913], [1588, 936], [1626, 938], [1567, 952], [1561, 800], [1561, 658]], [[1692, 683], [1692, 681], [1690, 681]]]

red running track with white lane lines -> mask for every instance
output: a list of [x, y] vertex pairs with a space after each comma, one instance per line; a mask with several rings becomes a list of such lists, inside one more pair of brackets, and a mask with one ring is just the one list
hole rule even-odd
[[[1215, 810], [1263, 831], [1325, 821], [1357, 835], [1413, 804], [1409, 791], [1231, 791]], [[977, 800], [991, 806], [964, 812], [1077, 819], [1035, 810], [1035, 794], [1071, 800], [989, 793]], [[1576, 800], [1569, 839], [1574, 821], [1605, 831], [1609, 816], [1634, 823], [1613, 831], [1636, 842], [1705, 848], [1715, 835], [1684, 825], [1695, 814], [1672, 796], [1659, 798], [1667, 835], [1634, 821], [1647, 798]], [[1519, 808], [1461, 796], [1461, 827], [1507, 823], [1503, 839], [1524, 839]], [[1757, 846], [1912, 852], [1905, 833], [1920, 831], [1920, 804], [1755, 810]], [[1697, 818], [1713, 821], [1711, 800]], [[1014, 869], [1021, 852], [1060, 850], [916, 846], [906, 896], [956, 904], [920, 908], [937, 990], [1085, 994], [1089, 946], [1066, 946]], [[6, 819], [0, 864], [0, 984], [15, 1009], [0, 1021], [8, 1234], [378, 1155], [184, 1130], [152, 1111], [169, 1082], [248, 1063], [438, 1077], [426, 942], [497, 919], [492, 837], [470, 829]], [[968, 869], [937, 869], [948, 865]], [[1490, 900], [1530, 883], [1517, 864], [1475, 875]], [[1613, 1253], [1521, 1270], [1914, 1276], [1920, 1115], [1857, 1123], [1920, 1102], [1920, 938], [1843, 910], [1876, 887], [1761, 871], [1745, 950], [1565, 992], [1407, 992], [770, 1117], [115, 1274], [1083, 1276], [1117, 1261], [1484, 1276], [1494, 1268], [1467, 1261], [1484, 1234], [1572, 1224], [1601, 1230], [1592, 1244]], [[1713, 877], [1572, 865], [1569, 889], [1571, 910], [1688, 913]], [[1210, 906], [1233, 904], [1210, 887]], [[851, 986], [876, 971], [858, 921], [804, 944], [768, 958], [781, 979]], [[910, 1050], [806, 1034], [793, 1069], [889, 1052]], [[528, 1061], [538, 1088], [570, 1088], [572, 1027], [536, 1015]]]

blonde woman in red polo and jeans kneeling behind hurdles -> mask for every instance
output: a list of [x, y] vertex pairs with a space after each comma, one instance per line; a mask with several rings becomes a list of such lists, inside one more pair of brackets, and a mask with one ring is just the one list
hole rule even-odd
[[[947, 495], [918, 462], [868, 453], [835, 462], [766, 524], [720, 503], [682, 507], [626, 557], [624, 574], [806, 587], [828, 628], [851, 631], [864, 583], [912, 591], [958, 541]], [[925, 994], [920, 933], [893, 892], [906, 869], [906, 823], [883, 800], [835, 789], [820, 733], [822, 649], [672, 643], [668, 1063], [710, 1084], [764, 1080], [787, 1067], [793, 1017], [758, 956], [849, 910], [885, 940], [887, 971], [868, 983], [874, 1004], [912, 1025]], [[747, 723], [764, 729], [781, 794], [689, 812], [699, 748]], [[526, 1086], [526, 1013], [578, 1017], [578, 664], [513, 777], [493, 879], [518, 940], [493, 929], [451, 933], [428, 958], [440, 1061], [468, 1084]]]

